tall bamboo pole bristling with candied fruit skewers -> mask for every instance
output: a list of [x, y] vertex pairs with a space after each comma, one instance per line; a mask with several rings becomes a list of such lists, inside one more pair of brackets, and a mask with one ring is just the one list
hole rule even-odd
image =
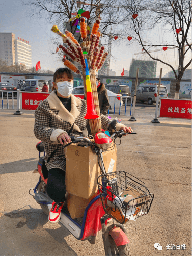
[[[104, 47], [101, 46], [100, 49], [98, 49], [99, 45], [99, 39], [100, 39], [100, 32], [98, 33], [100, 21], [96, 20], [95, 23], [93, 24], [92, 32], [90, 37], [87, 36], [87, 31], [86, 31], [86, 26], [87, 24], [85, 23], [85, 19], [81, 18], [80, 19], [80, 35], [83, 40], [81, 45], [79, 45], [76, 42], [76, 39], [70, 32], [66, 32], [66, 35], [62, 34], [57, 26], [53, 26], [52, 31], [59, 34], [62, 36], [63, 41], [65, 41], [69, 48], [63, 48], [60, 46], [61, 50], [63, 49], [65, 54], [68, 55], [69, 57], [75, 57], [76, 61], [79, 62], [82, 66], [82, 78], [84, 82], [84, 91], [85, 91], [85, 97], [87, 101], [87, 108], [88, 106], [88, 101], [90, 102], [90, 97], [92, 98], [93, 104], [92, 106], [92, 111], [94, 112], [94, 119], [89, 119], [90, 123], [90, 129], [91, 133], [93, 136], [95, 136], [96, 133], [101, 132], [101, 115], [100, 115], [100, 108], [99, 108], [99, 99], [98, 99], [98, 93], [97, 93], [97, 85], [96, 85], [96, 74], [98, 73], [98, 70], [102, 67], [104, 64], [105, 58], [108, 55], [108, 53], [104, 53]], [[70, 63], [70, 61], [66, 61], [63, 59], [64, 63], [67, 64], [67, 66], [76, 72], [79, 72], [79, 70], [76, 70], [74, 68], [74, 64]], [[86, 64], [87, 63], [87, 64]], [[86, 69], [87, 65], [87, 69]], [[87, 70], [87, 71], [86, 71]], [[86, 75], [88, 74], [89, 75]], [[88, 82], [88, 77], [89, 77], [89, 85], [87, 84]], [[89, 90], [89, 91], [87, 91]], [[89, 96], [87, 98], [87, 94], [89, 92]], [[91, 95], [91, 96], [90, 96]], [[86, 114], [88, 116], [88, 112]], [[85, 118], [86, 118], [85, 116]], [[98, 116], [96, 118], [96, 116]]]

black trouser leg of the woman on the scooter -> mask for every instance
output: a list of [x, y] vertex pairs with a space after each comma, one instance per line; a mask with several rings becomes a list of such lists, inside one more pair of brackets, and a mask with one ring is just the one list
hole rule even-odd
[[47, 194], [54, 202], [65, 201], [65, 171], [52, 168], [48, 172]]

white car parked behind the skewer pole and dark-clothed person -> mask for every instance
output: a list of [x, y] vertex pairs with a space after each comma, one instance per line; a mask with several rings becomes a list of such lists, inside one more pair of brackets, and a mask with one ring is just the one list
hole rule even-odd
[[[114, 108], [114, 103], [116, 104], [116, 107], [120, 105], [123, 106], [122, 98], [118, 97], [121, 96], [120, 94], [114, 93], [112, 91], [107, 90], [108, 97], [109, 97], [109, 103], [111, 105], [111, 108]], [[84, 86], [78, 86], [75, 87], [72, 91], [72, 94], [76, 97], [79, 97], [81, 99], [84, 98]]]

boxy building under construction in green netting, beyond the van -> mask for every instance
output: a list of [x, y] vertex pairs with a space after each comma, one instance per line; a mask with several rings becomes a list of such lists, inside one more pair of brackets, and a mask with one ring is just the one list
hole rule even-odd
[[129, 76], [134, 78], [136, 76], [136, 70], [139, 68], [140, 77], [155, 78], [156, 67], [157, 67], [157, 61], [145, 61], [145, 60], [132, 59]]

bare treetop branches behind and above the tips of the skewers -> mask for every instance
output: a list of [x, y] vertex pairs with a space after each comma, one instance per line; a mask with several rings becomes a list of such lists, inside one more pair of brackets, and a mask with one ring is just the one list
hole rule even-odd
[[[90, 12], [90, 18], [87, 25], [91, 25], [95, 22], [96, 18], [102, 20], [100, 29], [103, 37], [109, 36], [121, 36], [122, 31], [117, 29], [119, 24], [122, 24], [124, 19], [121, 15], [120, 0], [28, 0], [25, 5], [30, 5], [30, 16], [38, 16], [39, 18], [47, 18], [51, 25], [56, 23], [60, 30], [67, 29], [71, 33], [75, 33], [75, 37], [80, 41], [79, 33], [76, 33], [77, 25], [72, 26], [73, 21], [68, 22], [70, 18], [74, 17], [72, 13], [78, 12], [79, 9]], [[113, 30], [111, 31], [111, 28]]]

